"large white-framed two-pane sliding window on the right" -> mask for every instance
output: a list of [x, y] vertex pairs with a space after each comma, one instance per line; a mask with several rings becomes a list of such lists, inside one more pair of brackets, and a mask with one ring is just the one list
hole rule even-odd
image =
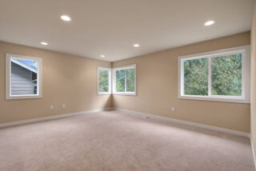
[[179, 57], [178, 97], [250, 102], [250, 46]]

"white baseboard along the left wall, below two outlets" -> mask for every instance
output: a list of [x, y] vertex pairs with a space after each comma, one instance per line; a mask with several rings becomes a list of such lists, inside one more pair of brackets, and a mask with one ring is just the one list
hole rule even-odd
[[95, 113], [95, 112], [100, 112], [100, 111], [103, 111], [103, 110], [110, 110], [110, 109], [112, 109], [112, 108], [93, 109], [93, 110], [86, 110], [86, 111], [76, 112], [76, 113], [60, 114], [60, 115], [55, 115], [55, 116], [51, 116], [51, 117], [39, 117], [39, 118], [23, 120], [23, 121], [8, 122], [8, 123], [0, 124], [0, 128], [6, 127], [6, 126], [28, 124], [28, 123], [37, 122], [37, 121], [49, 121], [49, 120], [52, 120], [52, 119], [58, 119], [58, 118], [62, 118], [62, 117], [71, 117], [71, 116], [74, 116], [74, 115], [86, 114], [86, 113]]

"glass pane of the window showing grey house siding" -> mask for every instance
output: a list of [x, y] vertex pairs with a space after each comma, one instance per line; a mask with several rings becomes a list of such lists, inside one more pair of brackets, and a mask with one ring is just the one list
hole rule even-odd
[[10, 59], [10, 95], [38, 94], [38, 62]]

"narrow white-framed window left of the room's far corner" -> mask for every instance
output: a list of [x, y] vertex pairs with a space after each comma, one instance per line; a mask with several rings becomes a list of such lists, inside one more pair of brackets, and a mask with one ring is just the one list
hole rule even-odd
[[111, 69], [98, 67], [98, 94], [111, 93]]

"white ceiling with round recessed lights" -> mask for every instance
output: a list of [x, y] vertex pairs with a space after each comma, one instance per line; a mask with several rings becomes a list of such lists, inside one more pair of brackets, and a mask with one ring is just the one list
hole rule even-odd
[[[0, 40], [114, 62], [248, 31], [253, 4], [254, 0], [0, 0]], [[62, 14], [71, 22], [63, 22]], [[208, 20], [215, 24], [204, 26]], [[134, 43], [140, 47], [134, 48]]]

